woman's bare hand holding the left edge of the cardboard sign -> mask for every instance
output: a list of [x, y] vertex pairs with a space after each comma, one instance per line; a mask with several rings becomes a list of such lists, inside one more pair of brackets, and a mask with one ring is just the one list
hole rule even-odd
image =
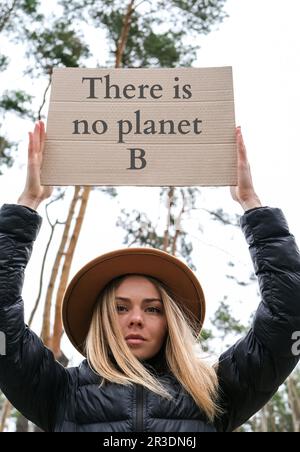
[[41, 185], [41, 167], [45, 148], [45, 125], [43, 121], [35, 124], [34, 131], [29, 132], [27, 178], [18, 204], [36, 209], [38, 205], [51, 196], [53, 187]]

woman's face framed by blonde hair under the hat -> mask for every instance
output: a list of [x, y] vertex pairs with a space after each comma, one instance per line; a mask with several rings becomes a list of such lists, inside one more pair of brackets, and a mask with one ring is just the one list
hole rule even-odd
[[[127, 276], [116, 290], [119, 324], [128, 347], [136, 358], [152, 358], [159, 352], [167, 333], [167, 320], [160, 294], [144, 276]], [[128, 336], [140, 336], [142, 340]]]

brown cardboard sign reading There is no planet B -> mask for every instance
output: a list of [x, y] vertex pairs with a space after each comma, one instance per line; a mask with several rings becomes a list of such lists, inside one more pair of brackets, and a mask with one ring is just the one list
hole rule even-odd
[[57, 68], [43, 185], [237, 184], [232, 68]]

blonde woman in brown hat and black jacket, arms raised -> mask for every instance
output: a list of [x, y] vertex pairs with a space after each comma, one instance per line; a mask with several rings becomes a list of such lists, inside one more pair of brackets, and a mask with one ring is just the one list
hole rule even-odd
[[[248, 334], [206, 364], [197, 337], [205, 315], [195, 274], [150, 247], [114, 250], [70, 282], [63, 322], [84, 356], [65, 369], [25, 324], [24, 269], [52, 194], [41, 186], [45, 129], [29, 134], [27, 181], [17, 204], [0, 210], [0, 387], [45, 431], [232, 431], [258, 411], [296, 366], [300, 255], [282, 211], [262, 206], [253, 188], [240, 128], [238, 185], [262, 301]], [[3, 347], [2, 347], [3, 350]]]

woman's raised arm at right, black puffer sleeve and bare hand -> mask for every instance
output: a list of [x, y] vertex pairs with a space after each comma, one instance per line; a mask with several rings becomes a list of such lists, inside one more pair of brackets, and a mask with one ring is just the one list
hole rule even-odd
[[262, 408], [299, 360], [294, 347], [300, 331], [299, 249], [281, 209], [261, 206], [240, 129], [237, 142], [239, 183], [231, 194], [245, 210], [241, 228], [262, 299], [248, 334], [219, 359], [222, 431], [236, 429]]

